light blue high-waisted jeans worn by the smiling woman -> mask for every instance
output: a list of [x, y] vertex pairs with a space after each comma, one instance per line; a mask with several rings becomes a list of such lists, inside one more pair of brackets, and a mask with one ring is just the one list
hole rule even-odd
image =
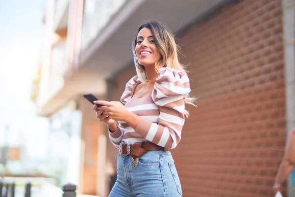
[[171, 153], [148, 151], [136, 168], [130, 155], [118, 155], [118, 178], [109, 197], [182, 197]]

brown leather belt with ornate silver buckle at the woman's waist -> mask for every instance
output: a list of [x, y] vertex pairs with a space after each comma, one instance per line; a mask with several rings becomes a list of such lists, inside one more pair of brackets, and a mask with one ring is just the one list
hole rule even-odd
[[156, 145], [152, 142], [136, 142], [134, 144], [128, 144], [125, 141], [120, 143], [119, 155], [126, 157], [131, 155], [133, 167], [138, 164], [138, 158], [146, 154], [148, 151], [165, 151], [166, 148]]

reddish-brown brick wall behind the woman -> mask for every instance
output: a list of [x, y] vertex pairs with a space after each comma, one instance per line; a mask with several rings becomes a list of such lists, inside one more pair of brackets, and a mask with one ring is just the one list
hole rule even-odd
[[[179, 37], [199, 98], [173, 150], [184, 197], [271, 195], [286, 137], [282, 36], [280, 0], [239, 0]], [[109, 99], [134, 75], [120, 72]]]

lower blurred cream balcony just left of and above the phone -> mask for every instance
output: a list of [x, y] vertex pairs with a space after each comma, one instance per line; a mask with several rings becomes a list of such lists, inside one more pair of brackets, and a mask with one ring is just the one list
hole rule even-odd
[[104, 78], [93, 73], [92, 70], [83, 69], [79, 74], [67, 77], [72, 69], [67, 41], [56, 44], [52, 48], [48, 85], [43, 86], [36, 101], [39, 116], [51, 116], [77, 95], [93, 93], [100, 96], [106, 93]]

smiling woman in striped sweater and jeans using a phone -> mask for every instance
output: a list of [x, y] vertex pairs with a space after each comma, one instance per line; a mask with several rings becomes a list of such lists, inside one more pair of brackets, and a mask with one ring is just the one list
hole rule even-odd
[[[172, 155], [181, 138], [189, 79], [178, 61], [173, 34], [161, 23], [142, 24], [133, 42], [137, 75], [121, 102], [95, 101], [93, 109], [119, 148], [118, 178], [109, 197], [179, 197], [181, 185]], [[98, 105], [103, 105], [98, 107]]]

